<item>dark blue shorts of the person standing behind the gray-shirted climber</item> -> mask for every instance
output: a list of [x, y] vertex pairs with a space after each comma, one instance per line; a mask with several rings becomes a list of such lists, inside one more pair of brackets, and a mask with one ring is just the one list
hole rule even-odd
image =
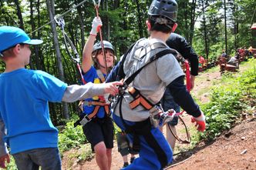
[[[170, 95], [170, 90], [167, 88], [164, 92], [163, 98], [161, 99], [161, 105], [164, 111], [167, 111], [171, 108], [175, 110], [175, 112], [180, 112], [180, 106], [174, 102], [173, 96]], [[172, 121], [168, 122], [169, 125], [177, 125], [178, 124], [178, 117], [175, 116]]]

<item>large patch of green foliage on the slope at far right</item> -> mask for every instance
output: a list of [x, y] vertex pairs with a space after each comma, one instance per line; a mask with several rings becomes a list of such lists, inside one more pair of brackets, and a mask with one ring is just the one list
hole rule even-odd
[[[256, 61], [251, 63], [255, 65]], [[201, 107], [207, 122], [206, 132], [201, 137], [212, 140], [231, 128], [241, 118], [242, 112], [255, 105], [255, 89], [255, 66], [239, 76], [232, 73], [223, 75], [221, 85], [213, 87], [211, 102]]]

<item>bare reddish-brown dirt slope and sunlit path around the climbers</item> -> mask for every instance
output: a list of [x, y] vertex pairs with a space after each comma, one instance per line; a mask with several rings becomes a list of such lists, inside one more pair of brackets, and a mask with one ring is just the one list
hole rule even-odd
[[[242, 70], [242, 68], [241, 68]], [[221, 78], [220, 72], [211, 72], [198, 75], [196, 78], [193, 95], [200, 95], [200, 102], [208, 102], [208, 91], [200, 92], [199, 89], [204, 89], [212, 85], [212, 83]], [[202, 82], [202, 80], [204, 82]], [[194, 128], [190, 123], [190, 117], [187, 114], [183, 115], [184, 122], [189, 128]], [[178, 129], [184, 128], [183, 125], [177, 126]], [[165, 129], [165, 128], [163, 128]], [[179, 131], [178, 131], [179, 132]], [[165, 132], [163, 132], [165, 133]], [[180, 133], [181, 138], [185, 138], [185, 133]], [[182, 148], [188, 148], [189, 145], [176, 145], [179, 151]], [[96, 165], [95, 158], [87, 162], [79, 162], [77, 160], [70, 160], [69, 155], [74, 154], [76, 150], [64, 153], [62, 158], [62, 169], [65, 170], [96, 170], [99, 169]], [[174, 151], [175, 154], [176, 150]], [[174, 162], [170, 168], [173, 170], [214, 170], [214, 169], [232, 169], [232, 170], [256, 170], [256, 118], [247, 118], [239, 125], [236, 125], [224, 135], [221, 135], [211, 144], [204, 144], [204, 142], [197, 145], [196, 148], [190, 152], [185, 152], [176, 156], [177, 162]], [[130, 160], [130, 158], [129, 158]], [[68, 163], [69, 162], [69, 163]], [[70, 163], [71, 162], [71, 163]], [[123, 166], [123, 160], [120, 153], [117, 152], [116, 141], [113, 148], [112, 170], [119, 170]], [[69, 167], [69, 168], [68, 168]]]

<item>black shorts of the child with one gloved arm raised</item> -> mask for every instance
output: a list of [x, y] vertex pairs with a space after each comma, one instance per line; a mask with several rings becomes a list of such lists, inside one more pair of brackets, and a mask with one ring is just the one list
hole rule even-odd
[[113, 122], [109, 117], [93, 118], [91, 122], [83, 126], [83, 133], [92, 148], [99, 142], [104, 142], [106, 148], [113, 148], [113, 132]]

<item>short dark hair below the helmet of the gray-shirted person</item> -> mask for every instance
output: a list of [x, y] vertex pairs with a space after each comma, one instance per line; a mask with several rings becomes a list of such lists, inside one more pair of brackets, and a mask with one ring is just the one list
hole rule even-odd
[[172, 32], [174, 22], [170, 19], [160, 16], [149, 16], [148, 21], [150, 22], [150, 31], [170, 33]]

